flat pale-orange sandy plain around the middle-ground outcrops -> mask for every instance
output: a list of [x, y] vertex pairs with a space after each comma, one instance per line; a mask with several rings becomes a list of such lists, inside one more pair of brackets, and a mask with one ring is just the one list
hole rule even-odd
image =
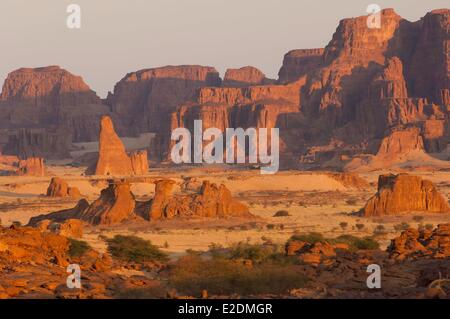
[[[381, 172], [361, 174], [370, 182], [367, 189], [346, 188], [326, 175], [325, 172], [283, 171], [276, 175], [260, 175], [259, 170], [223, 170], [224, 167], [191, 168], [189, 170], [154, 169], [145, 180], [133, 183], [132, 191], [138, 199], [153, 196], [154, 184], [160, 178], [172, 178], [181, 185], [182, 177], [195, 177], [199, 181], [208, 179], [225, 184], [234, 196], [246, 202], [254, 220], [192, 220], [168, 222], [144, 222], [139, 225], [119, 227], [88, 227], [84, 240], [103, 251], [103, 236], [133, 234], [151, 240], [154, 244], [177, 256], [187, 249], [206, 250], [212, 244], [231, 245], [237, 242], [260, 243], [272, 240], [284, 243], [294, 233], [320, 232], [329, 237], [342, 234], [371, 236], [379, 225], [385, 234], [377, 238], [383, 246], [389, 243], [400, 230], [394, 226], [408, 223], [419, 224], [450, 222], [449, 214], [411, 213], [397, 217], [363, 218], [354, 214], [366, 200], [376, 192], [376, 181]], [[64, 178], [70, 186], [76, 186], [89, 200], [95, 200], [106, 186], [102, 177], [83, 176], [84, 168], [49, 165], [49, 176], [0, 177], [0, 219], [3, 225], [14, 221], [26, 224], [32, 216], [45, 214], [76, 204], [74, 200], [50, 199], [43, 196], [51, 176]], [[450, 173], [424, 171], [414, 174], [433, 181], [439, 190], [450, 197]], [[273, 217], [279, 210], [287, 210], [290, 216]], [[418, 217], [421, 216], [421, 217]], [[362, 229], [356, 227], [363, 225]], [[100, 237], [99, 237], [100, 236]]]

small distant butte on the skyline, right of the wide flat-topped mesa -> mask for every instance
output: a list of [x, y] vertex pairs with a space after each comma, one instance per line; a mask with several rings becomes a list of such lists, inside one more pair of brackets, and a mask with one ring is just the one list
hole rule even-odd
[[273, 80], [266, 78], [265, 74], [252, 66], [240, 69], [228, 69], [222, 82], [224, 87], [246, 87], [251, 85], [271, 84]]

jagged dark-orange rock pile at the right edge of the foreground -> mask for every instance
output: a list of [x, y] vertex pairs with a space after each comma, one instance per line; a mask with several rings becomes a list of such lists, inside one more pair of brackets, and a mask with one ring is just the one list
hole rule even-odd
[[391, 258], [448, 258], [450, 257], [450, 224], [431, 229], [408, 229], [391, 240], [388, 247]]

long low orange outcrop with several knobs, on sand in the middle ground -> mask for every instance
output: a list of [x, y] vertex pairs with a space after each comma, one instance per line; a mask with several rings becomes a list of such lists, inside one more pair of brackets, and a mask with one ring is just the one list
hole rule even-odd
[[80, 219], [92, 225], [114, 225], [133, 220], [161, 220], [184, 218], [252, 217], [247, 205], [237, 201], [224, 185], [203, 182], [199, 192], [173, 195], [175, 182], [156, 181], [155, 196], [148, 202], [138, 202], [126, 181], [111, 180], [92, 204], [81, 199], [71, 209], [32, 217], [29, 226], [44, 221], [63, 223]]

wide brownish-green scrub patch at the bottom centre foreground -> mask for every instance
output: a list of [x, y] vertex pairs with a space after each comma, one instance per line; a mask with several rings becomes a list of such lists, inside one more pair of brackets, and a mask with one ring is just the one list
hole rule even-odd
[[306, 283], [299, 266], [264, 264], [248, 267], [227, 259], [185, 256], [171, 267], [169, 285], [187, 295], [206, 289], [213, 295], [282, 294]]

